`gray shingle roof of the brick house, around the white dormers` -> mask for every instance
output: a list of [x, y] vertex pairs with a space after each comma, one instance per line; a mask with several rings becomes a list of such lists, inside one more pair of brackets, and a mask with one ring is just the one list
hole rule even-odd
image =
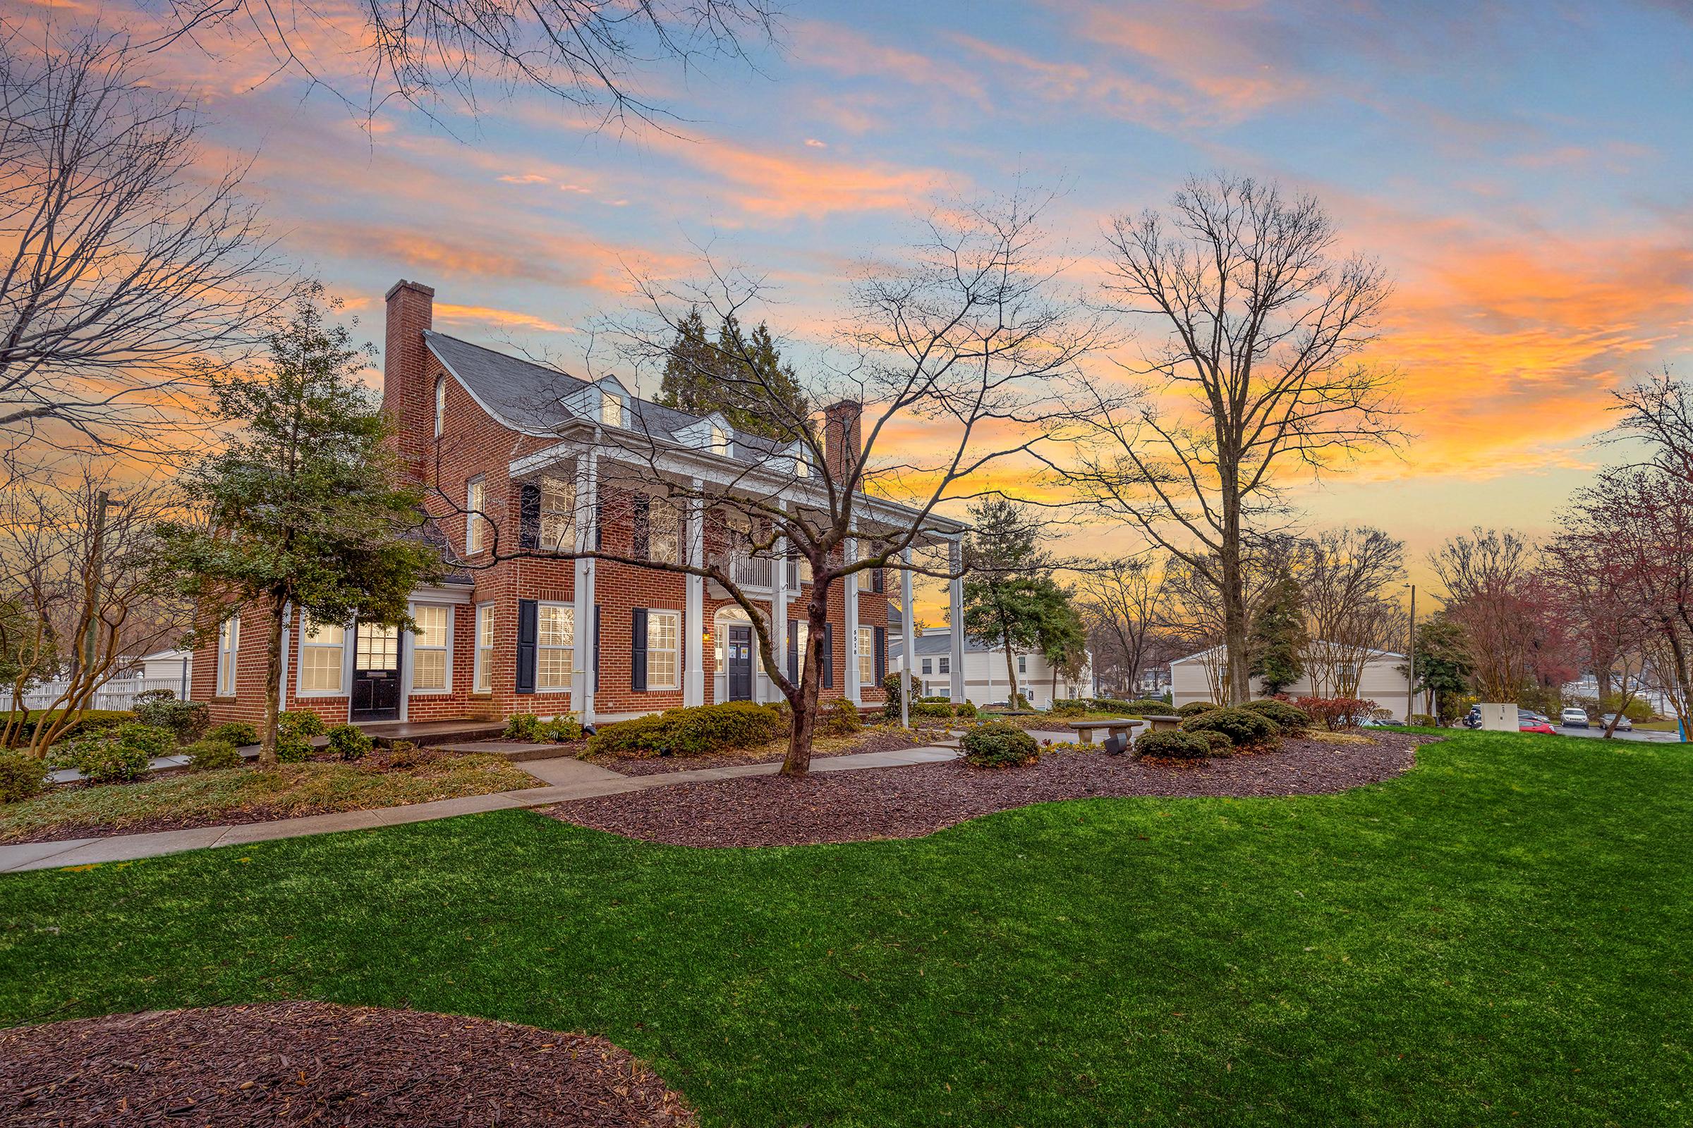
[[[523, 431], [549, 433], [557, 430], [571, 419], [571, 413], [559, 399], [591, 386], [589, 381], [549, 369], [543, 364], [472, 345], [433, 330], [425, 331], [423, 340], [483, 406], [501, 421]], [[676, 441], [677, 431], [706, 418], [633, 396], [630, 397], [630, 416], [633, 419], [631, 431], [647, 433], [664, 441]], [[733, 443], [735, 458], [740, 462], [755, 462], [758, 457], [784, 446], [775, 440], [745, 431], [733, 431]]]

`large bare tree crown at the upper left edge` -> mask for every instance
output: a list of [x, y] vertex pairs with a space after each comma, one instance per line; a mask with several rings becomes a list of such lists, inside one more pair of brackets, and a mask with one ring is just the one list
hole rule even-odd
[[159, 452], [286, 291], [240, 169], [130, 46], [0, 27], [0, 448]]

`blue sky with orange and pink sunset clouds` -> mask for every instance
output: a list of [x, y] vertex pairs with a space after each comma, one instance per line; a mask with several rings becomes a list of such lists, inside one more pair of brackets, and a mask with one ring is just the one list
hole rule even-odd
[[[322, 73], [357, 91], [334, 46]], [[371, 337], [411, 277], [437, 287], [438, 328], [567, 365], [577, 328], [625, 301], [623, 260], [682, 269], [709, 244], [767, 271], [777, 328], [808, 338], [936, 196], [1058, 189], [1050, 225], [1087, 255], [1188, 172], [1315, 193], [1395, 279], [1376, 360], [1402, 370], [1419, 438], [1299, 499], [1415, 555], [1475, 523], [1547, 529], [1613, 457], [1593, 445], [1607, 389], [1690, 364], [1685, 0], [801, 0], [753, 57], [647, 76], [677, 135], [584, 134], [557, 101], [494, 90], [477, 117], [389, 103], [367, 122], [251, 51], [173, 51], [161, 76], [203, 95], [229, 157], [257, 154], [288, 252]]]

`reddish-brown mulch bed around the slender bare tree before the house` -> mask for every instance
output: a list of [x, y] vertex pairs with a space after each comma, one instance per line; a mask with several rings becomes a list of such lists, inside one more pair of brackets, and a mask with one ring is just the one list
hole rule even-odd
[[631, 839], [677, 846], [801, 846], [911, 839], [997, 810], [1090, 797], [1322, 795], [1390, 780], [1426, 736], [1380, 734], [1371, 744], [1285, 739], [1273, 753], [1153, 763], [1104, 753], [1056, 753], [1028, 768], [987, 771], [963, 761], [745, 776], [572, 800], [545, 815]]

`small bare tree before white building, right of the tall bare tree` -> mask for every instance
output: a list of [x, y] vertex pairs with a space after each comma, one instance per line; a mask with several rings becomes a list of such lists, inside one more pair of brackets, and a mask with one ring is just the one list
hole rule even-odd
[[1305, 671], [1317, 697], [1358, 697], [1365, 663], [1405, 638], [1397, 587], [1405, 543], [1370, 526], [1324, 529], [1300, 553], [1299, 583], [1310, 621]]

